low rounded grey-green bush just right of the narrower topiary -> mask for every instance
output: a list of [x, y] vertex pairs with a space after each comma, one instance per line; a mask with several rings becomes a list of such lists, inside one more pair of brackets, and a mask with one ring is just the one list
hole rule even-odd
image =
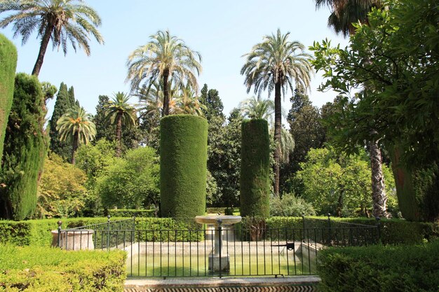
[[316, 211], [302, 197], [286, 193], [282, 198], [272, 197], [270, 200], [270, 216], [315, 216]]

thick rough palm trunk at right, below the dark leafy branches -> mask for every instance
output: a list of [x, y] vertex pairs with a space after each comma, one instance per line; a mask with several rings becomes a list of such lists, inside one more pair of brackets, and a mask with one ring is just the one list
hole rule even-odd
[[387, 195], [386, 186], [384, 185], [381, 150], [379, 149], [378, 141], [370, 141], [369, 146], [370, 167], [372, 169], [372, 214], [375, 217], [389, 218], [386, 207]]

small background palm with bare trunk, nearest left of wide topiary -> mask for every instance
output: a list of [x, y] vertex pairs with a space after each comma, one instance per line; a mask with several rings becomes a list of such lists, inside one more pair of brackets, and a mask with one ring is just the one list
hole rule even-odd
[[122, 151], [122, 125], [133, 127], [137, 124], [136, 109], [128, 104], [130, 97], [123, 92], [117, 92], [107, 104], [105, 104], [105, 116], [112, 124], [116, 124], [116, 156], [121, 156]]

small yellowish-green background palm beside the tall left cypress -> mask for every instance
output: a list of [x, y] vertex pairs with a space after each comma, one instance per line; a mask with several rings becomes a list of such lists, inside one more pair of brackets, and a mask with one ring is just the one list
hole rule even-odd
[[83, 107], [74, 105], [72, 109], [61, 116], [56, 122], [56, 130], [60, 133], [60, 140], [72, 140], [72, 164], [75, 164], [75, 153], [79, 144], [88, 144], [95, 138], [96, 126], [91, 121], [90, 113]]

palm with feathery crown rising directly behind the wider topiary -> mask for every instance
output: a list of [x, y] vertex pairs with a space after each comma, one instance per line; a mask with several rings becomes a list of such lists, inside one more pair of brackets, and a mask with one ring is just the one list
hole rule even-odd
[[158, 31], [150, 39], [149, 43], [140, 46], [128, 57], [126, 80], [131, 83], [132, 92], [137, 91], [141, 83], [149, 92], [154, 82], [161, 79], [164, 89], [162, 116], [168, 116], [169, 78], [173, 78], [176, 84], [186, 81], [198, 92], [194, 71], [198, 75], [201, 73], [201, 55], [191, 50], [181, 39], [171, 36], [168, 30]]

